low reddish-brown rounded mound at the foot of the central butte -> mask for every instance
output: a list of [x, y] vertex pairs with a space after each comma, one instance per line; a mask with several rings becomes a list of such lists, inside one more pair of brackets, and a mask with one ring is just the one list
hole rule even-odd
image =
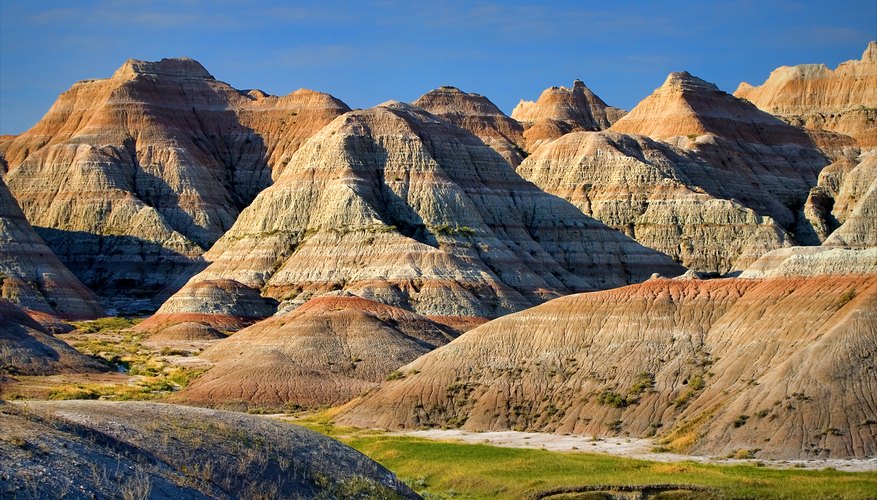
[[353, 296], [324, 296], [241, 330], [205, 350], [214, 367], [178, 395], [220, 406], [345, 403], [454, 332]]

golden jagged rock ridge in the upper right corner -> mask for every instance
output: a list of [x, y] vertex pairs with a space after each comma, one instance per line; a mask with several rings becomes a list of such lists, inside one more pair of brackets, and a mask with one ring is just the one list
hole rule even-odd
[[837, 132], [862, 148], [877, 147], [877, 42], [862, 59], [841, 63], [783, 66], [760, 86], [740, 84], [734, 95], [783, 120], [808, 129]]

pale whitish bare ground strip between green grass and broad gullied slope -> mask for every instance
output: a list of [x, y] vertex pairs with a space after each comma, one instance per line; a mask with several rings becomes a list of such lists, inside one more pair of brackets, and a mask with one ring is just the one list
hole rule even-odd
[[563, 436], [538, 432], [468, 432], [456, 429], [423, 430], [393, 433], [425, 439], [461, 441], [464, 443], [489, 444], [507, 448], [543, 448], [551, 451], [606, 453], [626, 458], [638, 458], [656, 462], [702, 462], [711, 464], [753, 464], [760, 462], [767, 467], [823, 469], [834, 467], [846, 472], [875, 472], [877, 457], [867, 459], [812, 459], [812, 460], [735, 460], [677, 453], [655, 453], [655, 443], [638, 438], [593, 438], [591, 436]]

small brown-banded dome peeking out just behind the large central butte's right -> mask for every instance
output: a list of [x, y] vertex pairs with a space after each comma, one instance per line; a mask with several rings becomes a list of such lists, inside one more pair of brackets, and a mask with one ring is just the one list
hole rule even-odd
[[440, 87], [412, 104], [472, 132], [513, 167], [524, 159], [524, 128], [482, 95]]

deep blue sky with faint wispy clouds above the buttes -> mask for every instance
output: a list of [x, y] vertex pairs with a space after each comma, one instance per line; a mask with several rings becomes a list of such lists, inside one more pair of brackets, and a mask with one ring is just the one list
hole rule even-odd
[[454, 85], [510, 113], [575, 78], [626, 109], [671, 71], [730, 92], [777, 66], [858, 59], [874, 39], [877, 0], [3, 0], [0, 133], [128, 58], [188, 56], [239, 89], [312, 88], [351, 107]]

